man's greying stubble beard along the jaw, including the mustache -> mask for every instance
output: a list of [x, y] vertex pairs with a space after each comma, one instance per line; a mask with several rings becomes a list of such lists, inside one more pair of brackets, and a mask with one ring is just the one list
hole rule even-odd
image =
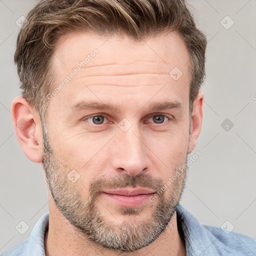
[[[54, 156], [45, 130], [43, 129], [43, 161], [45, 180], [56, 207], [63, 216], [76, 227], [80, 236], [89, 239], [101, 247], [114, 251], [136, 251], [153, 242], [166, 228], [180, 200], [186, 179], [186, 170], [174, 173], [179, 176], [172, 181], [170, 188], [162, 192], [155, 202], [151, 216], [139, 220], [138, 216], [145, 206], [119, 207], [122, 215], [128, 215], [130, 221], [116, 224], [104, 217], [96, 207], [100, 191], [103, 188], [147, 187], [160, 191], [164, 187], [162, 179], [140, 172], [136, 176], [118, 175], [112, 179], [98, 178], [90, 183], [88, 198], [80, 196], [81, 187], [67, 178], [70, 171], [66, 164], [61, 165]], [[184, 159], [186, 162], [186, 157]], [[179, 165], [181, 166], [182, 163]], [[111, 212], [111, 209], [108, 209]], [[132, 221], [133, 220], [133, 221]]]

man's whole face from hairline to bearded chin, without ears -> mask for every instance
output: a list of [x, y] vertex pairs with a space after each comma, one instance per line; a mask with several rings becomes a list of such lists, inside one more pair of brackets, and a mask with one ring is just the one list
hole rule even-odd
[[58, 209], [103, 247], [146, 246], [175, 212], [189, 146], [188, 61], [176, 32], [59, 40], [51, 64], [56, 84], [68, 82], [49, 100], [43, 167]]

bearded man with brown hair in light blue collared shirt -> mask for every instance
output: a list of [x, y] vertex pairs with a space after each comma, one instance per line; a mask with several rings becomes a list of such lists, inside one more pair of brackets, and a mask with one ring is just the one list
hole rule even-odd
[[42, 163], [49, 213], [4, 256], [256, 253], [179, 204], [205, 47], [182, 0], [42, 0], [29, 12], [11, 112]]

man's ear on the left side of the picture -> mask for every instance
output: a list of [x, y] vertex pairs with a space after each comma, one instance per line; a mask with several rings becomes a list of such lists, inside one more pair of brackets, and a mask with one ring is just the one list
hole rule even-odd
[[11, 103], [12, 122], [19, 144], [26, 157], [42, 161], [42, 128], [38, 112], [23, 97]]

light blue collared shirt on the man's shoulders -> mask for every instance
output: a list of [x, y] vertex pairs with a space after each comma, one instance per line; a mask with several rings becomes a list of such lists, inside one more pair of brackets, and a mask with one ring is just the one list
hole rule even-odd
[[[201, 225], [180, 204], [177, 205], [177, 219], [182, 227], [187, 256], [256, 255], [255, 239], [235, 232], [229, 233], [220, 227]], [[31, 234], [23, 242], [4, 252], [2, 256], [45, 256], [44, 234], [48, 223], [49, 213], [47, 212], [40, 217]]]

